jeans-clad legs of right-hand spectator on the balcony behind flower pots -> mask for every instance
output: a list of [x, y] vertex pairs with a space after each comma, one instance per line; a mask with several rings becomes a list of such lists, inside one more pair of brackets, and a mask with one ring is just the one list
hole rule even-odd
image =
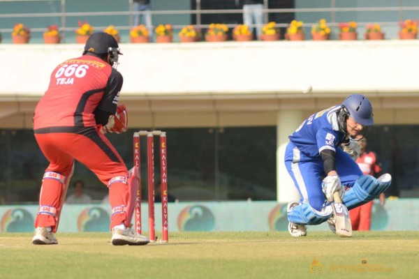
[[263, 27], [263, 0], [243, 1], [243, 23], [253, 34], [253, 26], [256, 24], [256, 36], [259, 40]]

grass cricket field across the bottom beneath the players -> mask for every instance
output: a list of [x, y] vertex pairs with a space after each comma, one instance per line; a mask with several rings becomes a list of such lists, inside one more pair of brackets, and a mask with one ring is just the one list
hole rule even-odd
[[[182, 232], [112, 246], [110, 233], [0, 234], [0, 278], [417, 278], [419, 232]], [[316, 259], [319, 264], [314, 264]], [[362, 263], [363, 261], [363, 263]], [[319, 269], [322, 267], [322, 269]], [[313, 268], [313, 269], [312, 269]], [[287, 276], [287, 277], [284, 277]]]

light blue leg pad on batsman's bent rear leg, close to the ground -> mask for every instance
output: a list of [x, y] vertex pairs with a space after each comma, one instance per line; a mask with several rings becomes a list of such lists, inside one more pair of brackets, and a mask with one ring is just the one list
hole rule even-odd
[[326, 206], [322, 211], [317, 211], [308, 202], [303, 202], [294, 207], [288, 214], [288, 221], [297, 225], [319, 225], [332, 217], [332, 207]]

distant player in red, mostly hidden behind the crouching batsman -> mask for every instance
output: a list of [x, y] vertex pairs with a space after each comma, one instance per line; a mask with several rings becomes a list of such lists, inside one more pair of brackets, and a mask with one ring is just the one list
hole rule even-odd
[[[361, 153], [356, 163], [360, 167], [363, 174], [369, 174], [372, 176], [379, 176], [381, 173], [381, 165], [378, 163], [376, 153], [367, 151], [367, 138], [364, 137], [358, 142], [360, 144]], [[381, 205], [384, 205], [385, 195], [381, 193], [379, 196]], [[373, 201], [367, 202], [362, 206], [355, 207], [349, 211], [351, 217], [352, 229], [354, 231], [369, 231], [371, 229], [371, 215]]]

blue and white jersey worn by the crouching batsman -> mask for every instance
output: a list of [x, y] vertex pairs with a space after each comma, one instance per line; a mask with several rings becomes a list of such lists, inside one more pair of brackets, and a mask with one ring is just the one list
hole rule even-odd
[[289, 137], [301, 153], [300, 162], [320, 156], [324, 149], [336, 152], [345, 140], [345, 134], [339, 131], [337, 113], [341, 106], [333, 106], [311, 115]]

